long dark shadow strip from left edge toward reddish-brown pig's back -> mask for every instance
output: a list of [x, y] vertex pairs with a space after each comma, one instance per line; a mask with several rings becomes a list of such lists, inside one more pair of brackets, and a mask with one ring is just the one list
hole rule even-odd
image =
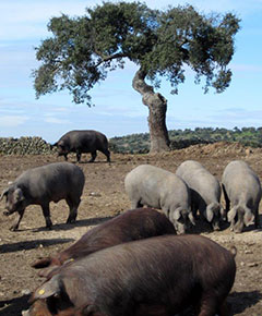
[[34, 241], [3, 244], [0, 246], [0, 254], [14, 253], [14, 252], [20, 252], [24, 250], [33, 250], [33, 248], [39, 247], [40, 245], [46, 247], [46, 246], [51, 246], [56, 244], [64, 244], [71, 241], [74, 241], [74, 240], [73, 239], [34, 240]]

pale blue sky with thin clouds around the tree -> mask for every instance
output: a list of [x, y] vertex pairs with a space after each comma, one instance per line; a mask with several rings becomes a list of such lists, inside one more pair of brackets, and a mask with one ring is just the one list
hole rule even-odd
[[[190, 3], [202, 12], [234, 12], [241, 19], [236, 52], [230, 63], [233, 81], [223, 94], [203, 94], [189, 71], [178, 95], [167, 83], [159, 93], [168, 100], [167, 127], [262, 126], [262, 0], [144, 1], [152, 9]], [[147, 108], [132, 89], [135, 65], [111, 72], [92, 92], [95, 107], [75, 105], [67, 93], [35, 98], [32, 70], [39, 64], [34, 47], [50, 36], [47, 23], [61, 13], [83, 15], [96, 0], [0, 1], [0, 137], [40, 136], [57, 141], [74, 129], [94, 129], [108, 137], [148, 131]]]

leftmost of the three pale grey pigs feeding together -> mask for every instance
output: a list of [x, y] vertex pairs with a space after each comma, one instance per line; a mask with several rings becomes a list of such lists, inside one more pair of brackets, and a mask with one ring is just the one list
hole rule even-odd
[[131, 208], [146, 205], [163, 209], [178, 233], [184, 233], [189, 220], [194, 224], [188, 185], [176, 174], [141, 165], [126, 175], [124, 187]]

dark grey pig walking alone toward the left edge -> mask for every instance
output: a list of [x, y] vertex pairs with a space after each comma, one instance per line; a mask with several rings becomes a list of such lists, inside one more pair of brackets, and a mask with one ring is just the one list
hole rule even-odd
[[66, 199], [70, 212], [67, 222], [74, 222], [85, 183], [82, 169], [70, 162], [55, 162], [24, 171], [5, 189], [0, 197], [7, 197], [4, 215], [17, 211], [17, 219], [10, 230], [17, 230], [28, 205], [40, 205], [46, 227], [51, 228], [50, 202]]

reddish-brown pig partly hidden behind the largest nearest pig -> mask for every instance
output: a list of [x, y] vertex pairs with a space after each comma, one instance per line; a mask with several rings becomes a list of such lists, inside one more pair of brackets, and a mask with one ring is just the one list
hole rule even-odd
[[[76, 259], [109, 246], [164, 234], [176, 234], [174, 224], [164, 214], [152, 208], [130, 209], [88, 230], [64, 251], [39, 259], [32, 266], [60, 266], [68, 259]], [[48, 274], [47, 269], [40, 276]]]

